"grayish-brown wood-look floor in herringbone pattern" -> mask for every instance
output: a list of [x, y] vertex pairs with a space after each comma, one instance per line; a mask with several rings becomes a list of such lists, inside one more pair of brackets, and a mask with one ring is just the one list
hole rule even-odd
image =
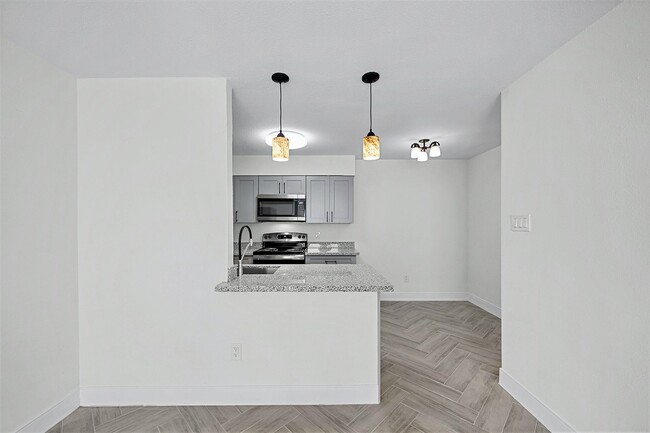
[[428, 433], [546, 428], [501, 388], [501, 321], [468, 302], [382, 302], [381, 404], [82, 407], [48, 433]]

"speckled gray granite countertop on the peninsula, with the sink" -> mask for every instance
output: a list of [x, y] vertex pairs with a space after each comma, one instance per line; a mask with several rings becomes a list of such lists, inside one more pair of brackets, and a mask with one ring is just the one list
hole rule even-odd
[[392, 292], [393, 286], [370, 265], [248, 265], [274, 267], [267, 275], [237, 277], [228, 269], [228, 281], [217, 292]]

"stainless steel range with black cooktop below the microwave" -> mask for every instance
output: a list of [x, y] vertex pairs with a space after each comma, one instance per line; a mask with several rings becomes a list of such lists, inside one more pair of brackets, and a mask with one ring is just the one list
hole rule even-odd
[[306, 249], [306, 233], [266, 233], [262, 248], [253, 251], [253, 263], [304, 264]]

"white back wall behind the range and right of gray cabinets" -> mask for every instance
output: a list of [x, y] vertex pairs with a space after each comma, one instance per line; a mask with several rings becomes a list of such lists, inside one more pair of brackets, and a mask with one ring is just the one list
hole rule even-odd
[[466, 172], [463, 160], [359, 160], [353, 224], [250, 224], [253, 238], [298, 231], [312, 242], [355, 241], [358, 263], [372, 265], [398, 292], [466, 292]]

